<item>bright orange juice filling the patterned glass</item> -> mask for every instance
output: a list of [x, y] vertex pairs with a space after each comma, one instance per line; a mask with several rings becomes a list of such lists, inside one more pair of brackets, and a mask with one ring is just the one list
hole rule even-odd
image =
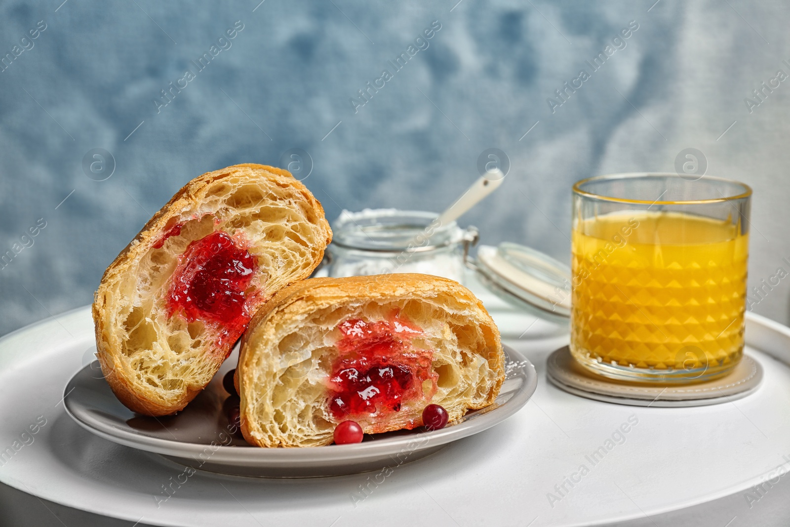
[[738, 225], [631, 211], [579, 220], [571, 245], [571, 352], [581, 363], [683, 381], [740, 359], [748, 235]]

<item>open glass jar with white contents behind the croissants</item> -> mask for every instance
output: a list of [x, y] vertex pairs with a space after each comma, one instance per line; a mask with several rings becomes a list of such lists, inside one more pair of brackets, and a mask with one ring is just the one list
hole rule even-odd
[[416, 210], [344, 210], [332, 226], [329, 276], [423, 273], [461, 282], [477, 229], [462, 229], [454, 221], [440, 225], [437, 218]]

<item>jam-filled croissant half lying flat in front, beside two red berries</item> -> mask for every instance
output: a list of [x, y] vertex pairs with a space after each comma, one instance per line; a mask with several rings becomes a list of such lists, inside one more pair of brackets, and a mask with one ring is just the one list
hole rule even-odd
[[235, 382], [245, 439], [322, 446], [354, 420], [365, 433], [450, 421], [491, 405], [505, 378], [499, 332], [461, 284], [422, 274], [311, 278], [277, 293], [242, 339]]

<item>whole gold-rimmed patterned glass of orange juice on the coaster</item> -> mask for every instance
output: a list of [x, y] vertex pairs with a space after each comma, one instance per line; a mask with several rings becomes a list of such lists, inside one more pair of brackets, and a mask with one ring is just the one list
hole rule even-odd
[[574, 185], [570, 351], [598, 375], [702, 382], [743, 354], [751, 188], [687, 178]]

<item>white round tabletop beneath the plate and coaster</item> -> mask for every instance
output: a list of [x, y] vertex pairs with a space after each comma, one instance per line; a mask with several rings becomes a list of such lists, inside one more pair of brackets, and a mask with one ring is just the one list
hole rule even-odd
[[[148, 525], [610, 525], [743, 494], [778, 466], [790, 470], [783, 458], [790, 459], [790, 368], [772, 356], [747, 348], [765, 367], [763, 385], [724, 405], [590, 401], [546, 382], [545, 356], [566, 335], [484, 301], [504, 333], [529, 328], [508, 344], [525, 352], [540, 375], [535, 396], [510, 420], [402, 465], [380, 483], [369, 484], [375, 473], [265, 480], [198, 471], [158, 507], [155, 496], [164, 497], [162, 485], [182, 467], [95, 437], [66, 416], [62, 389], [91, 358], [92, 322], [87, 307], [47, 319], [0, 340], [0, 450], [38, 416], [47, 420], [31, 444], [0, 466], [0, 482]], [[751, 318], [747, 341], [783, 356], [790, 329]], [[593, 465], [586, 456], [606, 446], [629, 417], [638, 423]], [[560, 495], [555, 485], [580, 465], [589, 472]], [[355, 503], [352, 496], [364, 496], [366, 484], [370, 495]], [[550, 492], [559, 501], [550, 503]], [[768, 510], [769, 497], [751, 505]]]

